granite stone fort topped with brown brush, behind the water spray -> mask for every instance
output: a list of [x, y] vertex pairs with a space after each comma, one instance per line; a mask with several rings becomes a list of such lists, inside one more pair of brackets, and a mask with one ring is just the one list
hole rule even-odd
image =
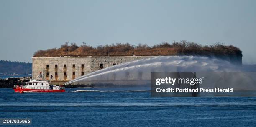
[[242, 51], [233, 45], [199, 45], [185, 40], [167, 42], [149, 47], [125, 44], [100, 45], [92, 47], [83, 43], [80, 47], [68, 42], [60, 48], [38, 50], [32, 57], [32, 77], [42, 73], [45, 80], [52, 84], [63, 84], [91, 72], [125, 62], [157, 56], [197, 55], [227, 60], [233, 64], [242, 64]]

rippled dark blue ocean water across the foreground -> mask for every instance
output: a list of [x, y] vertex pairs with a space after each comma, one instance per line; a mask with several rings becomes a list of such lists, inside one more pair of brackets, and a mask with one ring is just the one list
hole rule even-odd
[[253, 127], [256, 97], [151, 97], [144, 90], [66, 89], [14, 93], [0, 89], [0, 118], [31, 118], [3, 127]]

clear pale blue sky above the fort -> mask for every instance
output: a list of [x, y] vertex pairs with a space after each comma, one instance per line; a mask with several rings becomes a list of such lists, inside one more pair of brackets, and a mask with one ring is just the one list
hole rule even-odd
[[256, 0], [0, 0], [0, 60], [64, 42], [222, 42], [256, 63]]

